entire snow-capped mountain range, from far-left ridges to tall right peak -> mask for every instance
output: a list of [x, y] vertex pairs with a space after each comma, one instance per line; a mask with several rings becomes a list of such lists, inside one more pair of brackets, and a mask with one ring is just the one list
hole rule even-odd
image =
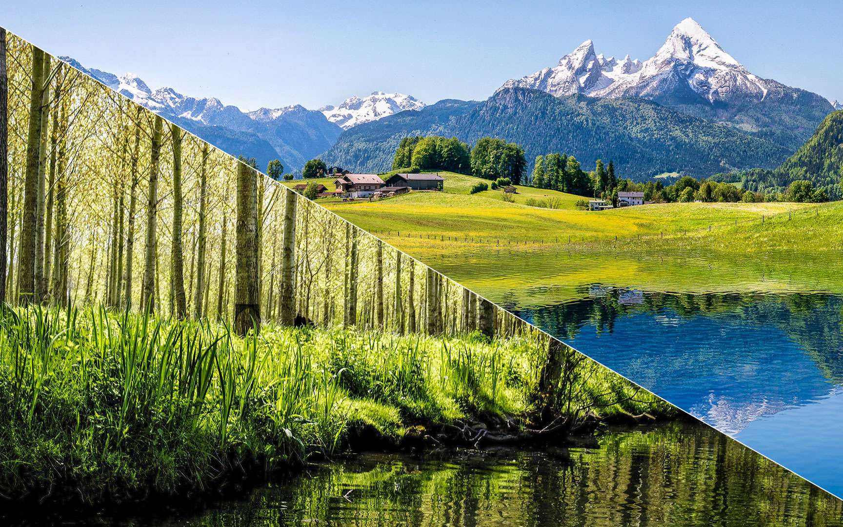
[[502, 137], [522, 144], [530, 164], [535, 155], [560, 151], [586, 168], [612, 159], [635, 180], [674, 171], [705, 176], [774, 168], [843, 108], [750, 73], [693, 19], [677, 24], [643, 62], [597, 55], [586, 40], [555, 67], [510, 79], [486, 101], [429, 106], [374, 92], [319, 110], [244, 112], [214, 98], [153, 91], [131, 73], [118, 78], [62, 60], [229, 153], [255, 157], [260, 166], [280, 158], [288, 170], [319, 156], [346, 169], [384, 171], [402, 137], [437, 134], [469, 143]]

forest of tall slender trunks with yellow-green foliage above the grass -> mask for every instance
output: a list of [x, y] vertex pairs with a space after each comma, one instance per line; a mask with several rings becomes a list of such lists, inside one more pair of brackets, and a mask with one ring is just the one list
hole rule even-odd
[[9, 304], [131, 306], [239, 334], [261, 321], [489, 336], [518, 324], [44, 51], [10, 35], [7, 54]]

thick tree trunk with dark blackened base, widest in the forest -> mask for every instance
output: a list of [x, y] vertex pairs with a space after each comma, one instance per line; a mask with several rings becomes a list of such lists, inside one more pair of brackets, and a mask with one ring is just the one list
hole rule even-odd
[[258, 211], [255, 169], [237, 162], [237, 283], [234, 287], [234, 332], [260, 330], [258, 282]]

